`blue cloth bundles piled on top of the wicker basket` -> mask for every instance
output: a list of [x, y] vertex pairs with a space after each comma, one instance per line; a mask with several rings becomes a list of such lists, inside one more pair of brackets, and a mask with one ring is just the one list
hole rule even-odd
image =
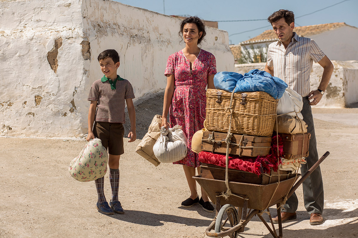
[[263, 91], [279, 99], [284, 94], [287, 83], [266, 71], [255, 69], [243, 76], [235, 72], [218, 72], [214, 76], [214, 86], [228, 92], [232, 92], [235, 87], [235, 92]]

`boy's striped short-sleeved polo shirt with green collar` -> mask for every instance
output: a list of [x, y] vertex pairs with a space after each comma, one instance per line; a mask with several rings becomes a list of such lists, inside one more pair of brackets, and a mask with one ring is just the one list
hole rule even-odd
[[116, 89], [111, 89], [110, 82], [96, 80], [89, 90], [88, 101], [97, 101], [95, 121], [125, 123], [125, 100], [135, 98], [131, 83], [117, 80]]

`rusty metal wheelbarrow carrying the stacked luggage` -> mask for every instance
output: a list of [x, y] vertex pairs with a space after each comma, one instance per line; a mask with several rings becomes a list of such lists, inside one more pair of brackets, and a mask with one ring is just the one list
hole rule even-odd
[[[281, 203], [284, 203], [295, 192], [328, 155], [329, 152], [327, 151], [299, 181], [297, 179], [300, 174], [283, 181], [265, 185], [228, 182], [231, 193], [234, 195], [227, 197], [227, 199], [220, 196], [227, 189], [225, 181], [194, 176], [193, 178], [205, 190], [211, 201], [216, 204], [216, 217], [205, 230], [205, 234], [208, 237], [229, 236], [236, 238], [238, 233], [244, 231], [246, 224], [257, 215], [274, 238], [282, 238], [281, 216], [278, 216], [279, 234], [277, 235], [268, 208], [276, 204], [277, 214], [281, 214]], [[250, 209], [249, 212], [247, 212], [247, 209]], [[270, 217], [272, 229], [262, 218], [262, 213], [266, 212], [266, 209]], [[226, 228], [227, 226], [231, 228]]]

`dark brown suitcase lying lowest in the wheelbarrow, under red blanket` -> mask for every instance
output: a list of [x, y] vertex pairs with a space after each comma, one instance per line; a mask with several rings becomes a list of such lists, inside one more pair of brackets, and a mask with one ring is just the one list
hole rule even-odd
[[[213, 164], [201, 163], [200, 165], [200, 177], [218, 179], [225, 181], [225, 168]], [[238, 183], [251, 183], [251, 184], [269, 184], [279, 181], [279, 172], [274, 172], [271, 169], [270, 174], [260, 174], [257, 176], [254, 173], [240, 171], [237, 169], [228, 169], [229, 182]], [[280, 170], [280, 181], [295, 177], [296, 174], [289, 173], [289, 171]]]

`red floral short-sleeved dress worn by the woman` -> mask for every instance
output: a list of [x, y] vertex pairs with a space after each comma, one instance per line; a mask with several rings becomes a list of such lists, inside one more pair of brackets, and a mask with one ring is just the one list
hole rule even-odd
[[174, 164], [196, 168], [200, 162], [198, 154], [192, 151], [192, 137], [195, 132], [204, 128], [205, 88], [208, 76], [216, 74], [215, 57], [208, 51], [200, 50], [190, 70], [190, 61], [181, 50], [169, 56], [164, 74], [175, 77], [175, 90], [169, 108], [170, 127], [177, 124], [182, 126], [188, 137], [187, 157]]

